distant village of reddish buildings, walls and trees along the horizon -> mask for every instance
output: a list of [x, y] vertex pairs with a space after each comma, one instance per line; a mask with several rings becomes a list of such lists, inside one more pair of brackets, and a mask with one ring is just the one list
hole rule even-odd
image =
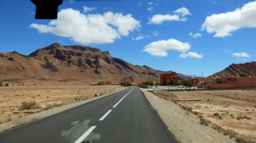
[[[160, 74], [160, 82], [156, 77], [156, 81], [151, 81], [151, 85], [161, 86], [175, 86], [185, 85], [186, 87], [197, 87], [197, 89], [241, 89], [241, 88], [255, 88], [256, 87], [256, 76], [249, 76], [243, 73], [243, 75], [228, 75], [228, 76], [211, 76], [205, 78], [195, 78], [188, 76], [187, 79], [179, 80], [178, 73], [170, 72]], [[142, 88], [148, 88], [145, 84], [148, 81], [138, 83]], [[119, 81], [119, 85], [132, 85], [129, 81]], [[95, 83], [92, 83], [95, 85]], [[97, 85], [112, 85], [111, 81], [100, 81]]]

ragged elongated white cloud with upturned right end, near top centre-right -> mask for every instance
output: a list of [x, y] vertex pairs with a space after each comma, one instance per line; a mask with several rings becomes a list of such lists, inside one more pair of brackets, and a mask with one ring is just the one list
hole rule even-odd
[[174, 12], [176, 13], [174, 15], [153, 15], [153, 17], [149, 19], [148, 24], [162, 24], [164, 21], [186, 21], [187, 18], [185, 16], [191, 15], [186, 8], [180, 8]]

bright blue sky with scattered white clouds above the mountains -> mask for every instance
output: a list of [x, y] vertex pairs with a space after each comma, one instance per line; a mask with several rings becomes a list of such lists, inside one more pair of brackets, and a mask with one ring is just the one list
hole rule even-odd
[[256, 61], [256, 1], [64, 1], [58, 11], [38, 20], [32, 2], [2, 0], [0, 52], [28, 55], [58, 42], [197, 76]]

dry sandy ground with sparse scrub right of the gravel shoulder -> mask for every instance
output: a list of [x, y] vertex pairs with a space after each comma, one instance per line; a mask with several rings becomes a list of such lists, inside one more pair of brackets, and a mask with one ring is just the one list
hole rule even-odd
[[163, 93], [178, 99], [201, 99], [177, 103], [202, 113], [203, 118], [212, 124], [256, 141], [256, 89]]

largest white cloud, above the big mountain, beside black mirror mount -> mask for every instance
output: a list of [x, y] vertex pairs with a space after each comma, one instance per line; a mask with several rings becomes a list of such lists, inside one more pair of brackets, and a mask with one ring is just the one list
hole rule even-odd
[[63, 9], [58, 13], [58, 19], [47, 25], [32, 23], [39, 33], [50, 33], [60, 37], [71, 38], [80, 44], [113, 43], [121, 36], [138, 30], [140, 21], [131, 14], [106, 12], [101, 14], [82, 14], [77, 10]]

